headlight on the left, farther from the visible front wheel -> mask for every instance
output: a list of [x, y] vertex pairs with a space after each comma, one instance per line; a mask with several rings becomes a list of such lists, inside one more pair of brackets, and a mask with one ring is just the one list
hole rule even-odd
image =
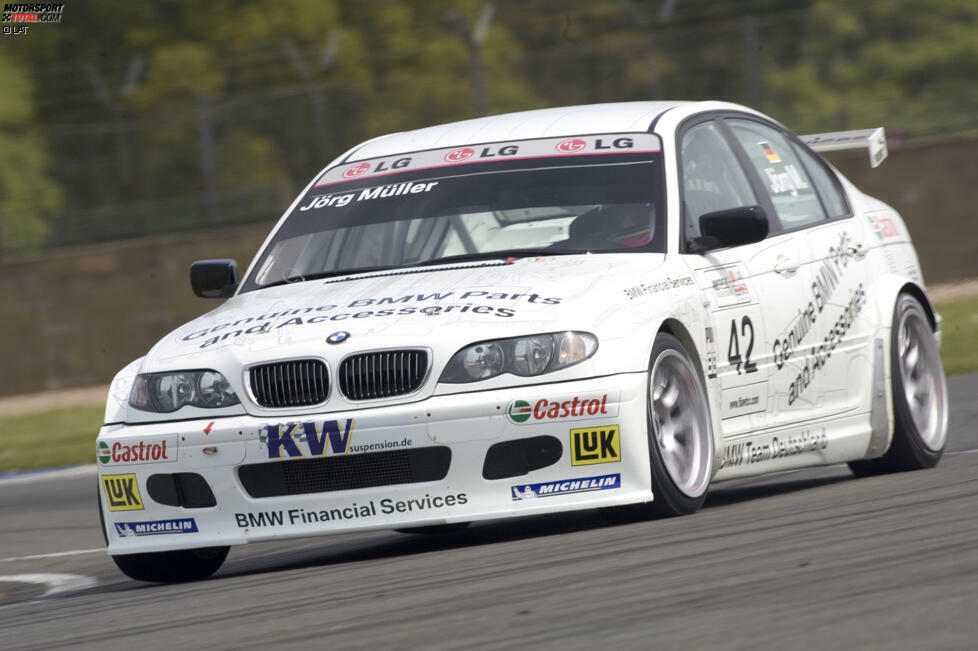
[[129, 394], [130, 406], [164, 414], [186, 405], [217, 409], [238, 402], [225, 377], [210, 370], [143, 373], [136, 376]]

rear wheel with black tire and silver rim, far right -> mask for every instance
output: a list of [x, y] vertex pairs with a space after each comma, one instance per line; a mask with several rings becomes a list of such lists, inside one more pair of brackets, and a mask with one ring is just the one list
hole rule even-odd
[[849, 464], [859, 476], [933, 468], [947, 442], [947, 380], [923, 306], [897, 297], [890, 330], [893, 441], [886, 454]]

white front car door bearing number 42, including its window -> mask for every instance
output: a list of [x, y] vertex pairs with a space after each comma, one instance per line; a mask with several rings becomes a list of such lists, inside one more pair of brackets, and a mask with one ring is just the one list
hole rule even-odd
[[792, 373], [794, 363], [779, 357], [774, 345], [783, 324], [800, 314], [787, 314], [785, 306], [810, 285], [804, 238], [782, 231], [770, 196], [720, 120], [683, 125], [679, 141], [685, 251], [700, 237], [699, 218], [706, 213], [761, 205], [770, 218], [770, 234], [760, 242], [687, 257], [710, 301], [707, 339], [715, 345], [724, 437], [810, 418], [809, 403], [788, 400], [803, 366]]

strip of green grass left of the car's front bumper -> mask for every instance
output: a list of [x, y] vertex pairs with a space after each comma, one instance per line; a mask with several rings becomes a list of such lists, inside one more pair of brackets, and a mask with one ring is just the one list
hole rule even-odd
[[104, 407], [0, 418], [0, 472], [95, 463]]

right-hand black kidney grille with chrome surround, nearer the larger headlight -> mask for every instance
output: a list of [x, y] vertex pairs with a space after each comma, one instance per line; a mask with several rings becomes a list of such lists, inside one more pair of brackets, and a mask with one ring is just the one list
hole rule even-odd
[[427, 374], [427, 350], [351, 355], [340, 364], [340, 392], [350, 400], [403, 396], [420, 389]]

